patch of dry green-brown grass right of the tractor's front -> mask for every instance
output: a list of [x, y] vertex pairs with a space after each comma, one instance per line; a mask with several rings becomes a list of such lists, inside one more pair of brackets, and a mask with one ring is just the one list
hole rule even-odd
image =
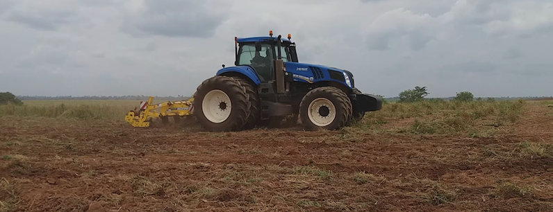
[[517, 121], [525, 104], [523, 100], [387, 103], [380, 111], [367, 113], [355, 127], [377, 133], [485, 137], [503, 132], [502, 127]]

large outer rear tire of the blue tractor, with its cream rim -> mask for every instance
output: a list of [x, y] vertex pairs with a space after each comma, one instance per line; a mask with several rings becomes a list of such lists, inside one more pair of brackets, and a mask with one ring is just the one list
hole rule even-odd
[[194, 114], [206, 130], [240, 131], [249, 116], [248, 94], [236, 79], [214, 76], [198, 86]]

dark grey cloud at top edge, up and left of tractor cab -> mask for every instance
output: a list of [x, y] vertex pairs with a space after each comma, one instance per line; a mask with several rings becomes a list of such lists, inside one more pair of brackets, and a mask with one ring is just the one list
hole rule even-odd
[[127, 17], [122, 29], [133, 35], [210, 37], [226, 19], [223, 14], [206, 1], [145, 0], [145, 9]]

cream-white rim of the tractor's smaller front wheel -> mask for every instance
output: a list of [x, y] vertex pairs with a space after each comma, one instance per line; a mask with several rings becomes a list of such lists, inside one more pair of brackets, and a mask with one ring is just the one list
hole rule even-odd
[[336, 107], [327, 98], [316, 98], [309, 104], [307, 116], [314, 125], [324, 127], [336, 119]]

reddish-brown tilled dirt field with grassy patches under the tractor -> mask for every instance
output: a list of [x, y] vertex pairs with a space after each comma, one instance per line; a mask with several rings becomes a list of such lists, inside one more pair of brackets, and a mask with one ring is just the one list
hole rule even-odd
[[0, 210], [553, 211], [550, 103], [384, 107], [336, 132], [3, 115]]

